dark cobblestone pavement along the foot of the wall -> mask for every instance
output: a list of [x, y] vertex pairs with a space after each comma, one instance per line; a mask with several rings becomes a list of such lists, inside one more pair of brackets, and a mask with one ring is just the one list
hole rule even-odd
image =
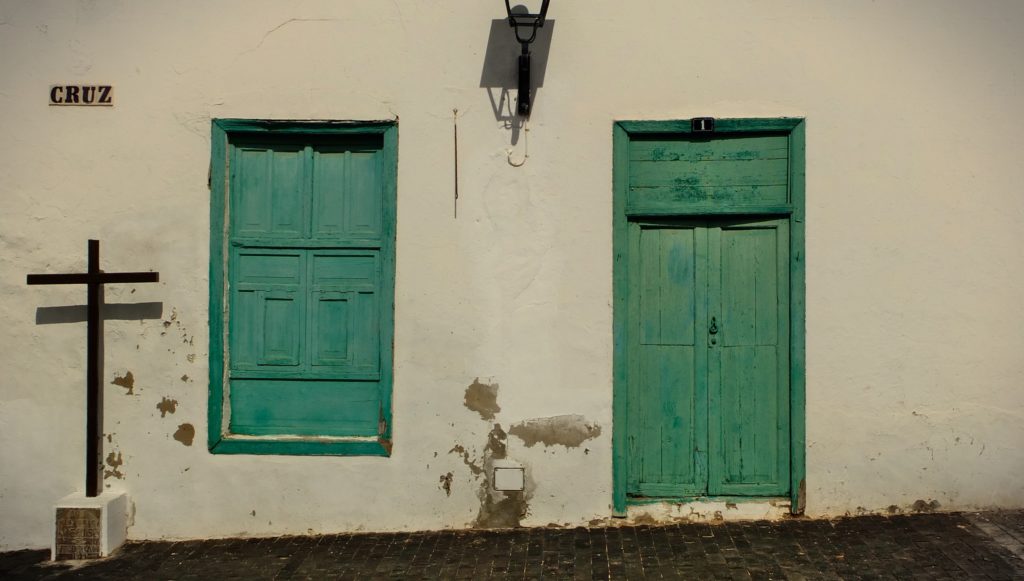
[[1024, 579], [1024, 510], [133, 542], [0, 579]]

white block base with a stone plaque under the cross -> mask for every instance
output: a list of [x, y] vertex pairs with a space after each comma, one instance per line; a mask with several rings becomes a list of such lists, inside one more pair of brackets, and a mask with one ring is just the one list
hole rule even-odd
[[50, 558], [69, 561], [108, 556], [128, 534], [128, 495], [103, 492], [88, 498], [75, 493], [53, 508]]

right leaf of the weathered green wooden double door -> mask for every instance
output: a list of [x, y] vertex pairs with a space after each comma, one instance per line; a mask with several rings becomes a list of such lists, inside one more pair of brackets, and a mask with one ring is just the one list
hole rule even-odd
[[788, 491], [786, 220], [725, 223], [713, 241], [709, 312], [709, 494]]

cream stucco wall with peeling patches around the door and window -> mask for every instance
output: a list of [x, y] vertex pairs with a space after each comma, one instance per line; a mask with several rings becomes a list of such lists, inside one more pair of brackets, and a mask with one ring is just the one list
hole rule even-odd
[[[25, 275], [83, 269], [89, 238], [105, 268], [162, 280], [106, 293], [163, 303], [106, 324], [106, 483], [131, 538], [469, 526], [480, 482], [450, 451], [483, 455], [476, 378], [506, 429], [602, 428], [509, 438], [536, 487], [523, 524], [606, 517], [611, 125], [703, 115], [808, 119], [807, 513], [1024, 505], [1024, 4], [556, 0], [515, 146], [479, 86], [503, 9], [0, 2], [0, 549], [47, 545], [82, 487], [85, 326], [36, 318], [85, 292]], [[116, 106], [47, 107], [62, 82], [114, 84]], [[207, 451], [211, 118], [400, 118], [392, 457]], [[131, 396], [110, 383], [127, 371]]]

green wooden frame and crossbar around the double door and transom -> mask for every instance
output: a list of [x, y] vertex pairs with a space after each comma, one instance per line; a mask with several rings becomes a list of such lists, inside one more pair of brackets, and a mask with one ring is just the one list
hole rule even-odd
[[[691, 133], [690, 120], [674, 121], [617, 121], [612, 126], [612, 254], [613, 259], [613, 314], [614, 338], [612, 377], [612, 512], [626, 515], [628, 498], [626, 470], [626, 386], [628, 377], [627, 314], [629, 273], [626, 254], [629, 249], [628, 225], [631, 217], [639, 216], [722, 216], [757, 215], [787, 217], [790, 219], [790, 496], [791, 512], [802, 514], [805, 506], [806, 473], [805, 441], [805, 135], [806, 121], [802, 118], [775, 119], [717, 119], [715, 132], [720, 134], [756, 136], [759, 134], [784, 134], [790, 141], [790, 191], [785, 204], [759, 205], [751, 203], [695, 203], [687, 204], [684, 211], [678, 206], [627, 205], [629, 194], [629, 146], [634, 136], [644, 134]], [[678, 499], [684, 500], [684, 499]]]

